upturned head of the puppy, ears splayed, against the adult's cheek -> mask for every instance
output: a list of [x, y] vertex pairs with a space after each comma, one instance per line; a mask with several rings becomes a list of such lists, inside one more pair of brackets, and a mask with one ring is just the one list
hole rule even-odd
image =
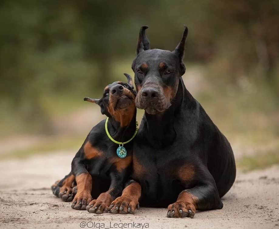
[[100, 99], [84, 98], [84, 101], [96, 103], [101, 113], [109, 118], [119, 121], [121, 126], [129, 124], [135, 113], [136, 92], [130, 75], [124, 73], [128, 82], [115, 81], [105, 87], [103, 97]]

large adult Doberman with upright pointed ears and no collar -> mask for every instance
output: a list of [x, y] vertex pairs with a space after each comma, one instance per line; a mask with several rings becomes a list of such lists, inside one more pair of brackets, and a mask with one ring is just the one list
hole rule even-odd
[[175, 50], [166, 51], [150, 49], [146, 28], [140, 30], [132, 63], [135, 103], [145, 114], [134, 140], [132, 180], [111, 211], [127, 213], [126, 206], [138, 201], [168, 207], [167, 217], [221, 209], [220, 197], [235, 180], [235, 160], [226, 137], [183, 83], [188, 29]]

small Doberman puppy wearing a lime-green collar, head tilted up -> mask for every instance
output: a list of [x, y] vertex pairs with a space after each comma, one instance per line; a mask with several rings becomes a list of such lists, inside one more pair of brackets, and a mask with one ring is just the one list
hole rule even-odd
[[[117, 81], [107, 85], [101, 99], [84, 98], [99, 105], [108, 118], [92, 128], [73, 158], [70, 174], [52, 187], [53, 194], [63, 201], [73, 201], [73, 209], [107, 212], [111, 201], [121, 195], [131, 173], [132, 141], [129, 140], [137, 133], [136, 92], [131, 76], [124, 75], [128, 83]], [[109, 135], [124, 145], [116, 144]], [[77, 186], [73, 189], [75, 182]]]

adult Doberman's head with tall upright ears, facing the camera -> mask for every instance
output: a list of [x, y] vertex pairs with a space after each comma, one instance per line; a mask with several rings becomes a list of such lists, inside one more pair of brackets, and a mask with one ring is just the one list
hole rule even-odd
[[175, 97], [179, 78], [185, 73], [182, 58], [188, 29], [185, 26], [181, 41], [174, 51], [150, 49], [145, 29], [141, 27], [137, 57], [132, 63], [138, 92], [135, 103], [148, 114], [164, 112]]

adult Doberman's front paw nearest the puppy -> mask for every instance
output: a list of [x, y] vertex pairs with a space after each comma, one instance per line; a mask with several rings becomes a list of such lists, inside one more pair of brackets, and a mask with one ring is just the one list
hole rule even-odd
[[133, 197], [117, 197], [112, 201], [110, 211], [112, 214], [135, 214], [135, 209], [139, 209], [139, 203]]

